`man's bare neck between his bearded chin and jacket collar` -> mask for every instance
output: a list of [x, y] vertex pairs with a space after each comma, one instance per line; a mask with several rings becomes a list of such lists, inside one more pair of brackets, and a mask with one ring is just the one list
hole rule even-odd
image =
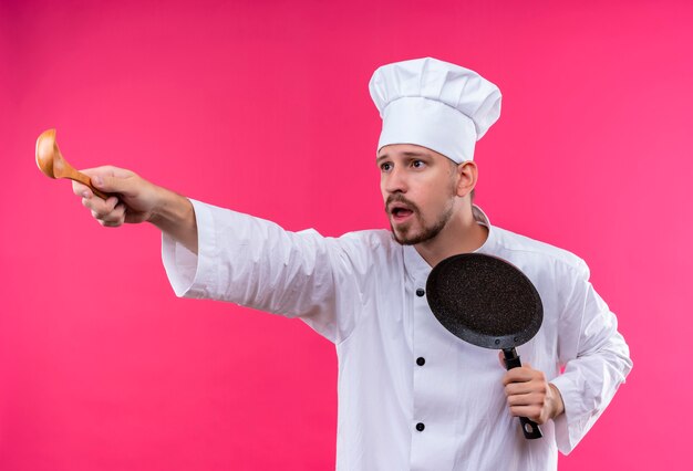
[[487, 238], [488, 228], [474, 220], [469, 206], [457, 211], [435, 238], [414, 248], [431, 266], [435, 266], [448, 257], [474, 252], [484, 245]]

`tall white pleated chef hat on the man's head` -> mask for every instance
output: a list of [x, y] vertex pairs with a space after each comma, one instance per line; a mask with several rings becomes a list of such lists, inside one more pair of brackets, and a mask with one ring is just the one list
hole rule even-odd
[[416, 144], [461, 164], [500, 116], [500, 91], [479, 74], [432, 57], [377, 69], [369, 84], [383, 118], [377, 148]]

